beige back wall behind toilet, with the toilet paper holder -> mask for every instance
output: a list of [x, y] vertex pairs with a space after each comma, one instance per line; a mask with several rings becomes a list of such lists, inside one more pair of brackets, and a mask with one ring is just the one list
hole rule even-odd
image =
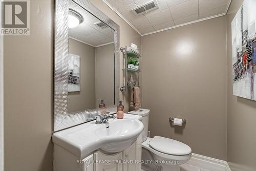
[[[142, 37], [143, 108], [151, 136], [226, 160], [226, 17]], [[187, 119], [172, 127], [168, 117]]]

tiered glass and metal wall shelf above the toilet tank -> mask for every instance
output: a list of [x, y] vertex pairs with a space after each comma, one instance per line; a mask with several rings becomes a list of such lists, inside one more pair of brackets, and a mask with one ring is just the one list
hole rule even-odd
[[139, 58], [141, 57], [141, 55], [139, 53], [137, 53], [136, 51], [132, 50], [131, 48], [127, 48], [127, 46], [125, 46], [124, 48], [120, 48], [121, 52], [123, 53], [123, 57], [125, 60], [125, 68], [123, 68], [123, 71], [125, 72], [125, 85], [123, 87], [120, 88], [120, 91], [127, 91], [127, 89], [132, 89], [133, 86], [127, 86], [127, 72], [131, 72], [131, 73], [136, 73], [137, 74], [137, 85], [136, 87], [140, 88], [140, 82], [139, 82], [139, 72], [141, 72], [140, 69], [136, 69], [136, 68], [127, 68], [127, 57], [132, 57], [132, 58], [137, 58], [137, 60], [139, 61]]

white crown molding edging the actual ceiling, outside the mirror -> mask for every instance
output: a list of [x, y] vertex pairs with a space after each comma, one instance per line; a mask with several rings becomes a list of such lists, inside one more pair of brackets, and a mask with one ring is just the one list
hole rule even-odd
[[168, 27], [168, 28], [165, 28], [165, 29], [153, 31], [153, 32], [146, 33], [146, 34], [141, 34], [124, 16], [122, 16], [122, 14], [120, 14], [120, 13], [119, 13], [111, 4], [109, 4], [106, 0], [102, 0], [102, 1], [103, 1], [107, 6], [109, 6], [118, 16], [120, 16], [127, 24], [129, 24], [137, 33], [139, 33], [139, 35], [145, 36], [145, 35], [154, 34], [154, 33], [158, 33], [158, 32], [165, 31], [165, 30], [169, 30], [169, 29], [174, 29], [174, 28], [181, 27], [181, 26], [190, 25], [190, 24], [197, 23], [197, 22], [202, 22], [202, 21], [207, 20], [207, 19], [212, 19], [212, 18], [224, 16], [224, 15], [227, 14], [228, 8], [229, 8], [229, 6], [230, 6], [232, 0], [229, 0], [229, 1], [228, 1], [228, 5], [227, 5], [227, 7], [226, 7], [225, 13], [218, 14], [218, 15], [214, 15], [214, 16], [210, 16], [210, 17], [206, 17], [206, 18], [202, 18], [202, 19], [198, 19], [198, 20], [195, 20], [195, 21], [193, 21], [193, 22], [188, 22], [188, 23], [184, 23], [184, 24], [181, 24], [181, 25]]

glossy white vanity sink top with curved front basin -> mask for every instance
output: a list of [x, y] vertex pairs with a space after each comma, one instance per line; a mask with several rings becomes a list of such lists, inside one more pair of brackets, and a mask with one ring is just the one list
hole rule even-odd
[[136, 141], [143, 131], [143, 123], [136, 115], [124, 114], [124, 119], [110, 119], [103, 124], [87, 122], [70, 129], [56, 132], [54, 144], [79, 158], [84, 158], [96, 149], [104, 153], [121, 152]]

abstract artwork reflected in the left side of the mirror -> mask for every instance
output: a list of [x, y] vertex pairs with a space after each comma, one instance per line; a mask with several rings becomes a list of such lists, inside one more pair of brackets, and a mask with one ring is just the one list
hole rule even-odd
[[69, 53], [68, 92], [80, 91], [80, 56]]

